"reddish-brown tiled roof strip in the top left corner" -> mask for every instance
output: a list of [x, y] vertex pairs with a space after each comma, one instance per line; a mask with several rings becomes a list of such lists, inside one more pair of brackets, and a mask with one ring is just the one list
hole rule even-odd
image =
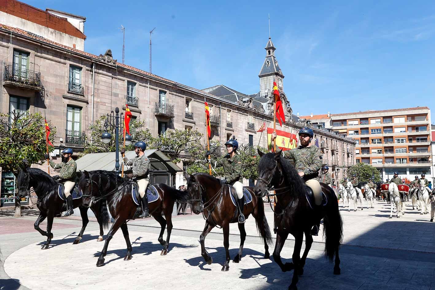
[[66, 18], [48, 13], [17, 0], [1, 0], [0, 11], [74, 37], [86, 39], [86, 35], [69, 23]]

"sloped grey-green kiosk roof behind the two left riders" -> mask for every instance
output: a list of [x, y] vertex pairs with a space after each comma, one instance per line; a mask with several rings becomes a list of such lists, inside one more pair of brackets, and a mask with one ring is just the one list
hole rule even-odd
[[[145, 156], [151, 161], [151, 169], [156, 170], [169, 170], [175, 172], [183, 171], [180, 167], [177, 166], [174, 162], [171, 161], [164, 153], [160, 150], [145, 150]], [[136, 157], [136, 153], [134, 151], [127, 151], [125, 155], [128, 159]], [[108, 153], [89, 153], [84, 157], [80, 157], [76, 160], [77, 170], [107, 170], [114, 171], [115, 170], [115, 152]], [[121, 169], [122, 164], [122, 155], [119, 154], [119, 165]], [[124, 170], [127, 168], [124, 167]]]

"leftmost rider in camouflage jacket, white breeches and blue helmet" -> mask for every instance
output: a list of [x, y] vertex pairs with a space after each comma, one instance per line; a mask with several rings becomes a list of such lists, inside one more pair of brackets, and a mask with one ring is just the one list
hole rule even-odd
[[[62, 153], [62, 162], [54, 163], [53, 160], [50, 159], [50, 166], [53, 167], [54, 170], [60, 169], [60, 174], [54, 176], [55, 180], [60, 180], [60, 183], [64, 184], [64, 194], [67, 200], [67, 212], [64, 217], [69, 217], [74, 213], [73, 210], [73, 197], [71, 196], [71, 190], [74, 188], [76, 184], [76, 171], [77, 164], [71, 157], [73, 155], [73, 150], [71, 148], [65, 148]], [[45, 154], [45, 159], [49, 159], [50, 155]]]

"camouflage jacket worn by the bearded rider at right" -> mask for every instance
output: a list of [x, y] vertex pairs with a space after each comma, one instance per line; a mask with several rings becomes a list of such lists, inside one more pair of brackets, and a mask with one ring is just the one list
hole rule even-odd
[[304, 180], [319, 179], [319, 170], [322, 167], [322, 152], [317, 146], [294, 148], [283, 152], [284, 158], [288, 159], [298, 172], [304, 172]]

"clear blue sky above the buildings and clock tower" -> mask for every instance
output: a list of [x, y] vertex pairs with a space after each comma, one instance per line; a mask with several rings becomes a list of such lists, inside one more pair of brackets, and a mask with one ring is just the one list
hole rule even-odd
[[125, 63], [142, 70], [156, 27], [153, 73], [244, 93], [259, 91], [270, 13], [294, 113], [435, 107], [434, 1], [25, 2], [87, 17], [85, 50], [119, 62], [124, 25]]

